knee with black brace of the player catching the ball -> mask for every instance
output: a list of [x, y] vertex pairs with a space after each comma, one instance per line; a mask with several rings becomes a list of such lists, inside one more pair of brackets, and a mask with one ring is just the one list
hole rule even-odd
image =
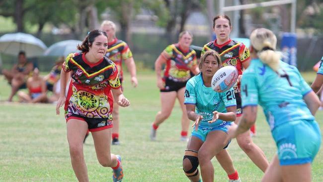
[[196, 151], [186, 150], [183, 158], [183, 170], [187, 177], [198, 175], [198, 153]]

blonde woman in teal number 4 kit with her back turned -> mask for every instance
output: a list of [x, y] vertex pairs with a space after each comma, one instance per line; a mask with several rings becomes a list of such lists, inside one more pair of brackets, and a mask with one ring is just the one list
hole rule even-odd
[[243, 116], [229, 136], [237, 137], [254, 124], [259, 103], [278, 149], [262, 182], [311, 182], [311, 162], [321, 145], [314, 118], [320, 100], [296, 67], [280, 61], [272, 31], [255, 29], [250, 41], [252, 61], [241, 85]]

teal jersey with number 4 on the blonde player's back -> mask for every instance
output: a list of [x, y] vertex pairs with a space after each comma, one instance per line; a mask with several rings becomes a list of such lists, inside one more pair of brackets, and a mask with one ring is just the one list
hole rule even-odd
[[290, 121], [314, 120], [303, 97], [312, 91], [296, 67], [280, 61], [278, 73], [259, 59], [243, 72], [242, 107], [262, 106], [270, 129]]

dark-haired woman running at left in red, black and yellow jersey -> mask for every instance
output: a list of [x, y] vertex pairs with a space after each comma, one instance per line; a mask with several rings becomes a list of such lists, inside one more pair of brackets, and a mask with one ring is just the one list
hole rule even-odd
[[[87, 130], [92, 132], [99, 163], [113, 169], [114, 182], [123, 178], [120, 156], [110, 153], [111, 113], [113, 99], [122, 107], [129, 106], [130, 102], [120, 89], [117, 67], [104, 56], [107, 46], [107, 34], [92, 30], [78, 46], [81, 53], [70, 54], [62, 66], [61, 93], [56, 113], [59, 114], [60, 106], [65, 104], [72, 167], [80, 182], [88, 182], [83, 156], [83, 140]], [[72, 81], [65, 95], [70, 77]]]

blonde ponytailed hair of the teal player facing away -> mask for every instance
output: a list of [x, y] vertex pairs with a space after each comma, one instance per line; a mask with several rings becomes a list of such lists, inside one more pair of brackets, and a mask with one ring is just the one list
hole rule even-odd
[[275, 52], [277, 38], [275, 34], [265, 28], [257, 28], [250, 35], [252, 47], [259, 59], [275, 72], [279, 69], [280, 54]]

